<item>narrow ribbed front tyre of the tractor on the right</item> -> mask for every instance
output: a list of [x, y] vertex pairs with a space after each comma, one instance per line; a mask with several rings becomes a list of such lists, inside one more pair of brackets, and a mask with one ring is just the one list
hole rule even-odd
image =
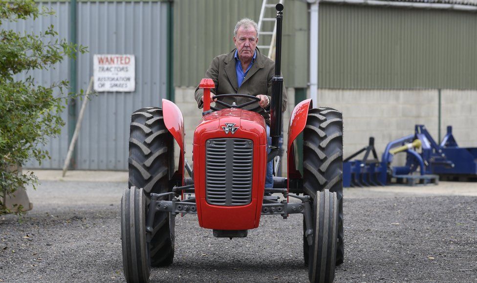
[[335, 277], [338, 236], [338, 198], [324, 190], [313, 201], [313, 242], [308, 259], [311, 283], [331, 283]]

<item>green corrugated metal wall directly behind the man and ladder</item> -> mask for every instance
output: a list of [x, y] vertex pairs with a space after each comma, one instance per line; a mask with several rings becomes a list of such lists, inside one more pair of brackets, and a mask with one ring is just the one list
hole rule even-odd
[[[282, 72], [285, 86], [306, 87], [307, 4], [301, 0], [285, 0], [284, 5]], [[235, 48], [232, 41], [235, 24], [244, 17], [258, 22], [260, 8], [260, 0], [174, 1], [174, 86], [197, 86], [212, 59]], [[259, 38], [260, 44], [265, 41]]]

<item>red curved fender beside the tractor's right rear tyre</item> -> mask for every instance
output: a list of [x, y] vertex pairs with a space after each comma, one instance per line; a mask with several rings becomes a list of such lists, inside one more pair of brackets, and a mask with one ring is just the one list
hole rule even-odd
[[297, 169], [297, 164], [295, 162], [295, 148], [293, 141], [297, 136], [304, 130], [306, 126], [306, 118], [308, 116], [308, 109], [313, 107], [311, 99], [306, 99], [300, 102], [290, 117], [290, 126], [288, 128], [288, 147], [287, 147], [287, 177], [288, 180], [301, 178], [302, 175]]

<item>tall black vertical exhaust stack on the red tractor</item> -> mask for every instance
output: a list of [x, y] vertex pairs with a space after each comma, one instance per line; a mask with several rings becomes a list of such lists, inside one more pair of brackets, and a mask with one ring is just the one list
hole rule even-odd
[[277, 41], [275, 44], [275, 75], [272, 77], [272, 101], [270, 102], [270, 153], [267, 162], [270, 162], [279, 154], [279, 139], [282, 136], [282, 100], [283, 100], [283, 77], [281, 74], [282, 65], [282, 20], [283, 5], [278, 3], [277, 9]]

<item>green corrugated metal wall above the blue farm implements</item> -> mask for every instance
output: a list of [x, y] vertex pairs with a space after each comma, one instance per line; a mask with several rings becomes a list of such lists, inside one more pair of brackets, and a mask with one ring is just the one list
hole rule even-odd
[[477, 88], [476, 13], [320, 4], [320, 88]]

